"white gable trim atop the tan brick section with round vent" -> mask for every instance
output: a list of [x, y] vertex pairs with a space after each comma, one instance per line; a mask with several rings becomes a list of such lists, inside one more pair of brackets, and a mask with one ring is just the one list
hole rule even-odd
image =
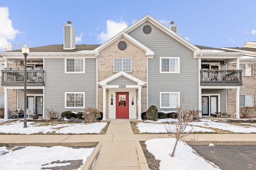
[[108, 41], [106, 41], [105, 43], [103, 43], [102, 45], [97, 47], [96, 49], [94, 49], [94, 53], [98, 54], [102, 49], [104, 49], [105, 47], [107, 47], [108, 45], [110, 45], [111, 43], [113, 43], [114, 41], [116, 41], [117, 39], [119, 39], [121, 37], [126, 38], [127, 40], [131, 41], [134, 45], [138, 46], [140, 49], [145, 51], [146, 56], [154, 55], [154, 51], [152, 51], [151, 49], [149, 49], [148, 47], [146, 47], [145, 45], [143, 45], [142, 43], [140, 43], [139, 41], [137, 41], [136, 39], [134, 39], [133, 37], [131, 37], [130, 35], [128, 35], [125, 32], [118, 33], [116, 36], [112, 37], [111, 39], [109, 39]]

